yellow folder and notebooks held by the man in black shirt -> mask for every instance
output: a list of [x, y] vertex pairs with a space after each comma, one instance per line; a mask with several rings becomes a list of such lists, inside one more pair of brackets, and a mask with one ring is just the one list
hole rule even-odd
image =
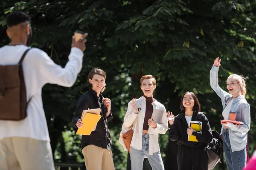
[[97, 123], [99, 122], [99, 119], [102, 117], [99, 115], [100, 111], [100, 108], [84, 110], [81, 116], [83, 126], [78, 128], [76, 134], [90, 135], [91, 132], [96, 129]]

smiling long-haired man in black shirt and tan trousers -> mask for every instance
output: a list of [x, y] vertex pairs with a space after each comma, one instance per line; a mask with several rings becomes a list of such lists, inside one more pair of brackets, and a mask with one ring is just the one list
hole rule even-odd
[[83, 94], [79, 100], [73, 125], [82, 127], [82, 112], [87, 109], [100, 108], [102, 116], [97, 123], [96, 130], [89, 136], [82, 135], [81, 149], [87, 170], [114, 170], [111, 151], [111, 135], [108, 130], [108, 122], [113, 118], [111, 114], [111, 100], [104, 98], [106, 74], [99, 68], [94, 68], [88, 75], [89, 91]]

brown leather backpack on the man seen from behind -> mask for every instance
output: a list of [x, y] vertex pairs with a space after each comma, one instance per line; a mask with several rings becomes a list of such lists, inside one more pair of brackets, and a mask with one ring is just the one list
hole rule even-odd
[[0, 65], [0, 120], [22, 120], [27, 116], [26, 87], [22, 61], [27, 49], [17, 65]]

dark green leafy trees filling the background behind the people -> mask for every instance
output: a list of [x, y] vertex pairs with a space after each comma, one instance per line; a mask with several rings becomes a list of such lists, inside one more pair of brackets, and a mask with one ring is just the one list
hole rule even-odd
[[[232, 74], [247, 79], [251, 106], [250, 155], [256, 149], [256, 55], [254, 51], [256, 3], [252, 0], [2, 0], [1, 45], [9, 43], [5, 17], [22, 10], [32, 17], [33, 47], [46, 51], [59, 65], [67, 62], [71, 36], [88, 32], [83, 69], [72, 88], [46, 85], [43, 89], [52, 149], [56, 161], [82, 162], [80, 138], [71, 119], [87, 88], [87, 74], [99, 67], [107, 73], [103, 93], [112, 101], [113, 159], [117, 170], [126, 167], [127, 153], [118, 143], [127, 103], [142, 95], [140, 77], [157, 79], [154, 97], [175, 115], [185, 91], [198, 95], [212, 129], [220, 131], [222, 106], [209, 85], [209, 70], [220, 57], [219, 84]], [[175, 169], [174, 142], [160, 135], [166, 169]], [[169, 161], [172, 160], [172, 161]], [[223, 169], [221, 164], [219, 169]]]

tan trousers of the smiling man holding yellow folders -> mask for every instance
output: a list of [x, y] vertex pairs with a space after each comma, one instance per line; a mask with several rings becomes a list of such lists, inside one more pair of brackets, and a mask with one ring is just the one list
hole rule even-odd
[[112, 151], [90, 144], [82, 149], [87, 170], [115, 170]]

